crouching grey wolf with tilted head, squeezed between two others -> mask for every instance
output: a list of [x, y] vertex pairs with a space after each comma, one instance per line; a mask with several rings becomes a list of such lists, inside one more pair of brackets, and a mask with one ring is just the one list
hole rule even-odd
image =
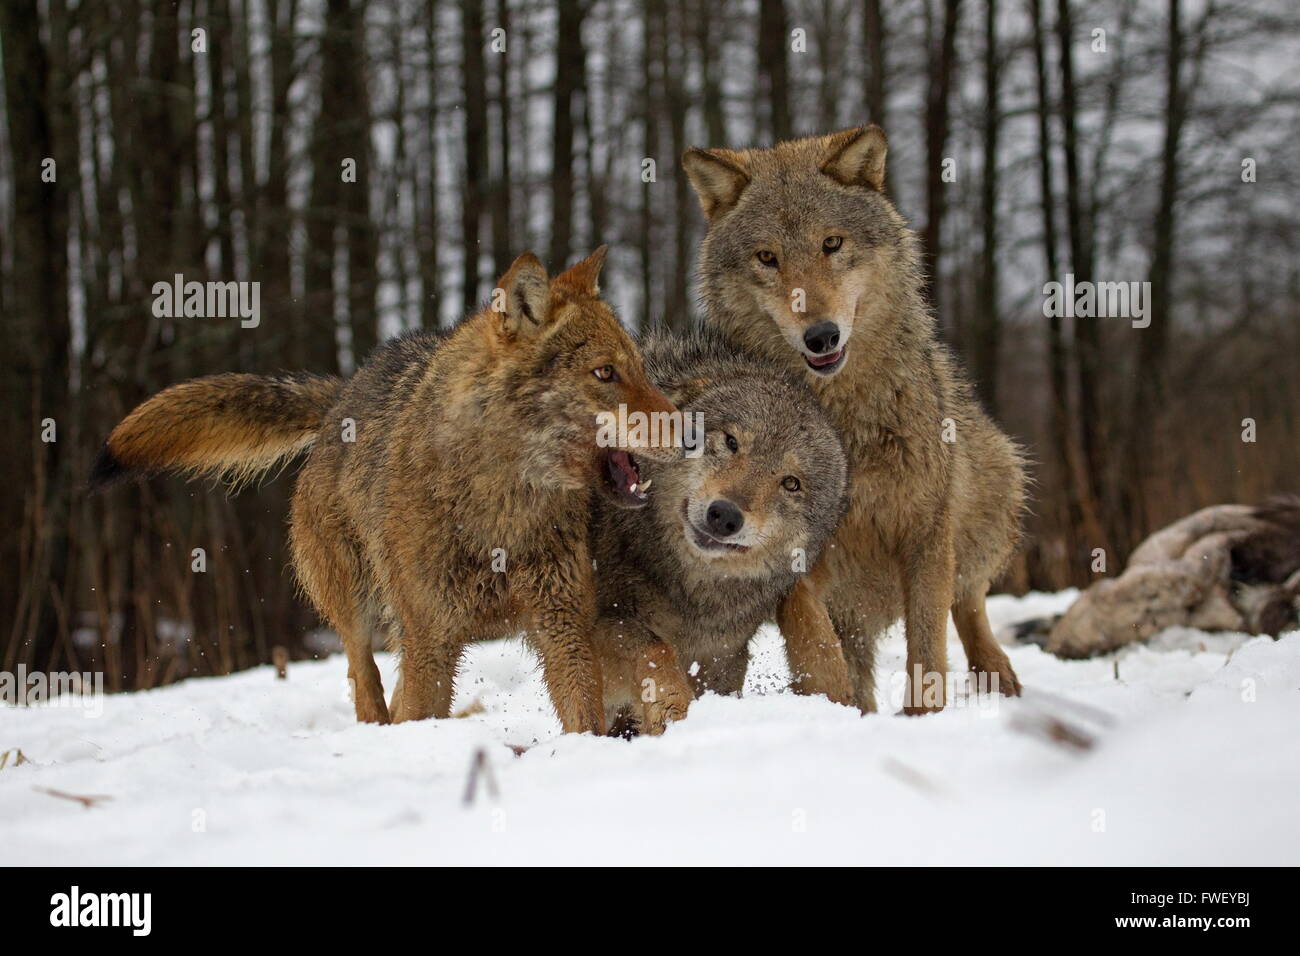
[[[802, 381], [716, 334], [653, 334], [641, 349], [650, 380], [702, 421], [703, 440], [698, 457], [645, 463], [647, 507], [594, 506], [594, 643], [619, 734], [660, 734], [698, 693], [740, 692], [750, 637], [814, 566], [846, 503], [844, 449]], [[822, 646], [794, 648], [796, 684], [846, 684], [824, 610], [819, 620]]]

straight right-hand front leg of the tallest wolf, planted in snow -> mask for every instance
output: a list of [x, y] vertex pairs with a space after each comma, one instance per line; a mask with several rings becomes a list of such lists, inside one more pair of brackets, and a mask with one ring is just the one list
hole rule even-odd
[[953, 525], [942, 514], [910, 538], [900, 575], [907, 635], [905, 714], [930, 714], [948, 702], [948, 610], [953, 605]]

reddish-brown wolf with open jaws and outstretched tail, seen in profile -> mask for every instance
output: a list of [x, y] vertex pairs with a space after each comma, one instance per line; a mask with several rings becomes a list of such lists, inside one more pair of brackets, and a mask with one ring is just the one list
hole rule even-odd
[[347, 384], [174, 385], [113, 429], [92, 485], [150, 471], [243, 479], [311, 446], [294, 563], [343, 641], [358, 719], [389, 719], [377, 628], [400, 646], [395, 721], [446, 717], [465, 643], [526, 631], [564, 730], [603, 732], [589, 489], [625, 506], [646, 497], [628, 450], [598, 447], [595, 416], [619, 403], [675, 411], [597, 298], [603, 258], [604, 247], [550, 280], [523, 255], [500, 280], [499, 310], [394, 339]]

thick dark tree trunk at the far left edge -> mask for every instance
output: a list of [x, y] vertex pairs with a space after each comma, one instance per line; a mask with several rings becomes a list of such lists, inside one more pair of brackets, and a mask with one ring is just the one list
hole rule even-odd
[[[65, 64], [57, 64], [40, 39], [35, 0], [0, 4], [9, 148], [13, 156], [13, 281], [6, 297], [6, 347], [0, 355], [5, 433], [12, 444], [4, 475], [9, 493], [0, 496], [0, 627], [6, 653], [4, 670], [16, 661], [42, 661], [58, 640], [52, 596], [66, 588], [66, 515], [62, 449], [73, 427], [68, 415], [68, 211], [69, 183], [75, 185], [74, 144], [65, 98], [72, 87]], [[66, 29], [52, 23], [51, 34]], [[62, 135], [61, 135], [62, 134]], [[53, 159], [55, 181], [44, 165]], [[55, 441], [43, 441], [47, 420]], [[60, 441], [61, 440], [61, 441]], [[20, 531], [21, 529], [21, 531]], [[26, 574], [16, 574], [17, 571]], [[20, 657], [21, 654], [21, 657]]]

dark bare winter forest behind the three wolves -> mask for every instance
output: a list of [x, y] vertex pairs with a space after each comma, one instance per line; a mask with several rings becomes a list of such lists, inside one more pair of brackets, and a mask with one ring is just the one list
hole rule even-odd
[[[1297, 488], [1290, 0], [3, 0], [0, 59], [4, 670], [117, 689], [317, 650], [291, 476], [92, 498], [113, 423], [190, 376], [346, 373], [524, 250], [607, 242], [624, 320], [685, 328], [696, 144], [885, 129], [942, 336], [1035, 460], [1005, 589]], [[260, 282], [259, 328], [155, 317], [176, 273]], [[1150, 326], [1044, 317], [1066, 273], [1150, 281]]]

